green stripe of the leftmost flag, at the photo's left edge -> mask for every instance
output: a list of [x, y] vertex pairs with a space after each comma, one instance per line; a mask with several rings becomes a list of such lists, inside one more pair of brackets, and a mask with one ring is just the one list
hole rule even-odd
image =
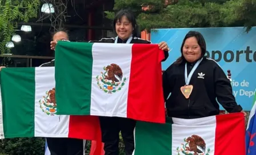
[[[35, 68], [3, 68], [1, 71], [2, 109], [5, 111], [3, 113], [3, 130], [5, 137], [19, 136], [21, 132], [25, 137], [34, 136], [35, 105], [30, 104], [30, 101], [35, 101], [34, 75]], [[21, 117], [21, 122], [18, 124], [13, 123], [12, 120]], [[9, 135], [9, 132], [17, 133], [18, 135]]]

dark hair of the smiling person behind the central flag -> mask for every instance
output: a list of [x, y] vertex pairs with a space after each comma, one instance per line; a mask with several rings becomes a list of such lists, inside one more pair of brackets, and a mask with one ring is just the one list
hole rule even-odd
[[133, 36], [138, 37], [139, 30], [138, 30], [135, 15], [132, 11], [127, 10], [127, 9], [121, 9], [115, 14], [114, 21], [113, 21], [114, 32], [115, 32], [115, 23], [117, 23], [117, 21], [121, 21], [123, 16], [125, 16], [128, 19], [128, 21], [131, 23], [131, 25], [133, 26], [133, 28], [134, 28]]

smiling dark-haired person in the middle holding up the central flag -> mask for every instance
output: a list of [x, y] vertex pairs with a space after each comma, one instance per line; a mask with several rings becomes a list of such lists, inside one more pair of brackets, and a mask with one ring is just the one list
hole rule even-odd
[[[138, 26], [135, 16], [129, 10], [120, 10], [113, 21], [115, 38], [102, 38], [91, 40], [93, 43], [141, 43], [150, 44], [148, 40], [138, 38]], [[57, 42], [51, 42], [51, 49], [54, 50]], [[169, 54], [169, 47], [165, 42], [158, 44], [159, 49], [164, 51], [165, 61]], [[125, 142], [125, 154], [131, 155], [134, 150], [134, 128], [136, 121], [121, 117], [99, 117], [102, 130], [102, 141], [104, 142], [105, 155], [119, 154], [119, 132], [121, 131]]]

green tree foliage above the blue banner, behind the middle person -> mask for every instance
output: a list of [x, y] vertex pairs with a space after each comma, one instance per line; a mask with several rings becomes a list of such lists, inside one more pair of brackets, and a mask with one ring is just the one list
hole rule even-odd
[[[114, 11], [121, 8], [133, 10], [139, 27], [147, 31], [153, 28], [243, 26], [238, 18], [243, 1], [255, 0], [115, 0]], [[106, 14], [107, 18], [114, 18], [113, 12]]]

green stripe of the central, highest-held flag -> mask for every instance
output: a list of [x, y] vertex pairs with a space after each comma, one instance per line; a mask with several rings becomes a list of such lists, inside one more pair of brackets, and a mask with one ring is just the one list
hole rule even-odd
[[[56, 101], [57, 103], [70, 102], [72, 104], [58, 104], [57, 113], [69, 112], [90, 115], [92, 47], [93, 43], [58, 42], [55, 51]], [[83, 64], [83, 66], [79, 64]], [[71, 76], [78, 73], [82, 75]], [[69, 97], [63, 98], [62, 95], [69, 95]], [[76, 98], [77, 96], [79, 98]], [[80, 111], [77, 112], [76, 109], [80, 109]]]

